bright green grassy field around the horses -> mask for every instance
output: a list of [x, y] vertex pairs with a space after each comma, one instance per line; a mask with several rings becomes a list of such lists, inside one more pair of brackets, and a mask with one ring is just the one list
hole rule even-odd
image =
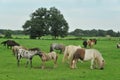
[[[0, 39], [0, 42], [6, 39]], [[38, 47], [44, 52], [49, 52], [51, 43], [65, 45], [81, 45], [82, 40], [30, 40], [14, 39], [27, 48]], [[17, 66], [16, 58], [12, 51], [0, 45], [0, 80], [120, 80], [120, 49], [116, 48], [119, 39], [98, 39], [94, 48], [98, 49], [105, 59], [104, 70], [91, 70], [90, 61], [77, 63], [77, 69], [70, 69], [69, 65], [62, 63], [63, 54], [58, 53], [58, 66], [53, 68], [53, 61], [46, 62], [46, 68], [41, 69], [41, 59], [33, 58], [33, 68], [25, 67], [26, 59], [22, 59]], [[83, 46], [82, 46], [83, 47]]]

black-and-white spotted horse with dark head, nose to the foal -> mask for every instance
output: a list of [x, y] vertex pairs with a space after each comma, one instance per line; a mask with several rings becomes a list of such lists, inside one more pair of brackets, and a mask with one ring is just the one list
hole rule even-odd
[[34, 55], [41, 55], [39, 50], [26, 50], [26, 49], [18, 49], [18, 53], [17, 53], [17, 65], [19, 66], [19, 62], [21, 58], [26, 58], [28, 59], [27, 63], [26, 63], [26, 67], [28, 65], [28, 63], [30, 62], [30, 67], [32, 67], [32, 58]]

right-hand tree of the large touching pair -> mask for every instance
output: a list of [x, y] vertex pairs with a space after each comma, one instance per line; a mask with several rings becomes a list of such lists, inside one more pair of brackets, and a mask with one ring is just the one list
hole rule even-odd
[[55, 7], [50, 8], [50, 32], [55, 38], [65, 37], [68, 32], [68, 23]]

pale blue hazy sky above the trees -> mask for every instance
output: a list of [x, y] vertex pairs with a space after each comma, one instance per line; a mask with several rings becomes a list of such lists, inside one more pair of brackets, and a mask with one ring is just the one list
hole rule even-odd
[[77, 29], [120, 31], [120, 0], [0, 0], [0, 29], [23, 30], [38, 8], [56, 7]]

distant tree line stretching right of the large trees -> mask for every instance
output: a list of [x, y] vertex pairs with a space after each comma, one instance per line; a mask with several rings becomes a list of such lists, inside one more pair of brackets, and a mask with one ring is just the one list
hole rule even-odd
[[120, 32], [115, 32], [113, 30], [82, 30], [82, 29], [75, 29], [74, 31], [71, 31], [69, 35], [74, 36], [88, 36], [88, 37], [105, 37], [105, 36], [111, 36], [111, 37], [120, 37]]

